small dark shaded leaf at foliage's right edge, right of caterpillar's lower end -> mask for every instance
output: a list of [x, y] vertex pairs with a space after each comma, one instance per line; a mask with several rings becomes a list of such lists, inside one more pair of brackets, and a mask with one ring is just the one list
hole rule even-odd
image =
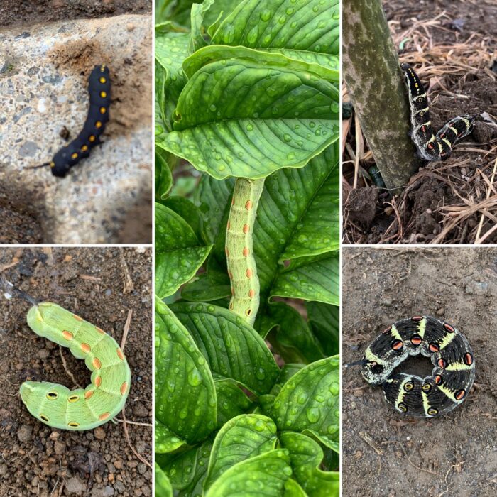
[[320, 341], [327, 356], [334, 356], [340, 351], [340, 308], [321, 302], [307, 302], [307, 316], [312, 332]]

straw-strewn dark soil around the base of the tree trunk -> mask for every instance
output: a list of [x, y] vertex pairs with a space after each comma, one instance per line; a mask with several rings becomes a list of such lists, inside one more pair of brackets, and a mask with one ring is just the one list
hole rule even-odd
[[[426, 163], [393, 199], [372, 185], [367, 170], [375, 163], [367, 147], [352, 189], [354, 158], [346, 151], [344, 243], [497, 242], [491, 231], [497, 214], [497, 4], [449, 4], [383, 1], [400, 61], [413, 65], [428, 87], [434, 128], [466, 113], [487, 113], [491, 122], [477, 121], [447, 160]], [[355, 133], [351, 124], [346, 141], [356, 152]]]

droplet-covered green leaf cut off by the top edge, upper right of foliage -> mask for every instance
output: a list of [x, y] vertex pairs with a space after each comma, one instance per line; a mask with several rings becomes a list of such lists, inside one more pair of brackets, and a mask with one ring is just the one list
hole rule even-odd
[[245, 0], [212, 43], [339, 54], [339, 0]]

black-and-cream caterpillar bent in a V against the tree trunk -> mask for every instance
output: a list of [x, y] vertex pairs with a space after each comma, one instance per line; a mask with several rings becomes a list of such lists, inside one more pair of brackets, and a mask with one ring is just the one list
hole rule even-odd
[[404, 72], [409, 90], [409, 136], [416, 146], [417, 155], [424, 160], [446, 159], [457, 141], [473, 131], [476, 116], [462, 114], [454, 117], [435, 135], [430, 121], [430, 104], [420, 78], [410, 65], [403, 64], [400, 68]]

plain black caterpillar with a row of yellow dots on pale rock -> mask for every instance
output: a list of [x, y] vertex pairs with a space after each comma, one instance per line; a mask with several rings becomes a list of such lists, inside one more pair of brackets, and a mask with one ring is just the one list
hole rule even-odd
[[50, 162], [35, 166], [36, 168], [50, 165], [54, 176], [64, 178], [73, 165], [88, 157], [92, 148], [101, 143], [99, 136], [109, 121], [111, 103], [111, 82], [106, 65], [94, 67], [88, 79], [88, 92], [88, 116], [80, 134], [69, 145], [62, 147]]

